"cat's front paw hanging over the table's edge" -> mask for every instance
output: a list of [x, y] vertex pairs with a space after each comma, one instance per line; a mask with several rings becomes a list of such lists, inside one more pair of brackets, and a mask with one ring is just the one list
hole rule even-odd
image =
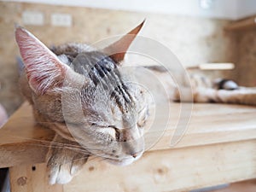
[[82, 169], [90, 154], [78, 143], [55, 135], [46, 156], [49, 183], [68, 183]]

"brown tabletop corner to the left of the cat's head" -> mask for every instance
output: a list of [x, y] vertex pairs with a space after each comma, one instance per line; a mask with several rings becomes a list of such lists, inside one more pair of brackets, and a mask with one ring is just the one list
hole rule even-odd
[[54, 132], [36, 125], [25, 102], [0, 129], [0, 167], [41, 163]]

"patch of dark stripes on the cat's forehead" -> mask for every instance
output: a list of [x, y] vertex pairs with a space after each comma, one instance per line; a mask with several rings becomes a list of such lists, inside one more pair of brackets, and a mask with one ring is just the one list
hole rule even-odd
[[107, 55], [93, 51], [79, 54], [73, 63], [74, 71], [91, 79], [95, 86], [108, 91], [118, 107], [123, 111], [132, 101], [131, 94], [120, 77], [114, 61]]

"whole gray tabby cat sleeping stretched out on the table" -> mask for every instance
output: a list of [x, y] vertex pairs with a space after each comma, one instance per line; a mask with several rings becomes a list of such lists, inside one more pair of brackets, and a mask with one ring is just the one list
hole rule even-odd
[[[26, 29], [16, 28], [25, 64], [21, 90], [38, 124], [56, 132], [46, 160], [49, 183], [68, 183], [91, 154], [115, 165], [131, 164], [142, 156], [148, 96], [141, 87], [125, 83], [119, 65], [142, 26], [102, 50], [86, 44], [64, 44], [50, 50]], [[152, 70], [159, 73], [155, 68]], [[170, 83], [163, 73], [160, 77]], [[256, 90], [227, 81], [201, 86], [195, 77], [191, 82], [194, 99], [188, 97], [184, 102], [256, 105]], [[190, 84], [179, 89], [190, 89]], [[170, 92], [174, 92], [172, 100], [179, 101], [177, 88]], [[67, 96], [65, 105], [63, 96]], [[79, 105], [82, 116], [76, 113]]]

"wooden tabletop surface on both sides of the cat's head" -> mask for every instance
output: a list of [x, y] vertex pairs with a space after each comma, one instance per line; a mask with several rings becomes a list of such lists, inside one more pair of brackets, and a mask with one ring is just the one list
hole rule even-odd
[[[186, 104], [185, 104], [186, 105]], [[189, 105], [189, 104], [188, 104]], [[171, 137], [179, 119], [180, 103], [170, 104], [169, 121], [164, 116], [156, 120], [158, 127], [166, 125], [165, 134], [149, 150], [171, 148]], [[230, 143], [256, 138], [256, 108], [224, 104], [194, 104], [188, 131], [174, 148]], [[183, 121], [183, 119], [180, 119]], [[150, 132], [148, 137], [156, 135]], [[0, 167], [44, 162], [53, 131], [36, 125], [32, 109], [25, 102], [0, 130]]]

